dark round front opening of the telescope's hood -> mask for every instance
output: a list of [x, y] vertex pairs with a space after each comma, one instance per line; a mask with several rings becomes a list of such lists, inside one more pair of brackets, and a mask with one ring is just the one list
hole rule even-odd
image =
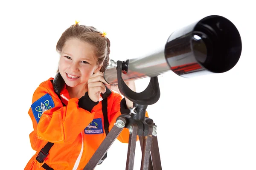
[[[207, 48], [207, 59], [201, 65], [214, 73], [223, 73], [233, 68], [241, 55], [241, 37], [236, 26], [221, 16], [209, 16], [195, 26], [201, 32]], [[195, 56], [196, 57], [196, 56]]]

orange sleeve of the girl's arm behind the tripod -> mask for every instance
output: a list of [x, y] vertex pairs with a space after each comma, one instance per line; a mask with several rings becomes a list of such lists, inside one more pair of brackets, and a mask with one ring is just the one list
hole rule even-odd
[[[113, 105], [111, 109], [111, 115], [110, 115], [110, 123], [109, 123], [109, 131], [114, 126], [114, 123], [116, 122], [116, 119], [121, 115], [120, 111], [120, 102], [122, 100], [122, 96], [120, 94], [116, 94], [115, 99], [113, 100]], [[146, 111], [145, 116], [148, 117], [148, 112]], [[129, 129], [123, 128], [122, 132], [119, 134], [119, 136], [116, 138], [122, 143], [128, 143], [129, 142]], [[139, 140], [139, 136], [137, 136], [137, 141]]]

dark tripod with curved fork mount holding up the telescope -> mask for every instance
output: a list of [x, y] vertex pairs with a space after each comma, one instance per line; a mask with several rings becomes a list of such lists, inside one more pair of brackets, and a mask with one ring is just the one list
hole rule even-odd
[[152, 119], [145, 117], [148, 105], [156, 103], [160, 98], [158, 79], [157, 77], [151, 77], [148, 87], [143, 92], [136, 93], [128, 88], [122, 79], [122, 71], [125, 69], [122, 68], [123, 66], [125, 65], [122, 61], [117, 61], [118, 88], [125, 97], [133, 102], [133, 108], [130, 109], [130, 113], [122, 114], [116, 119], [115, 126], [113, 126], [100, 144], [90, 161], [84, 167], [84, 170], [93, 170], [96, 167], [123, 128], [128, 128], [130, 132], [126, 170], [133, 170], [134, 167], [137, 136], [139, 136], [142, 150], [140, 170], [162, 170], [157, 142], [157, 126]]

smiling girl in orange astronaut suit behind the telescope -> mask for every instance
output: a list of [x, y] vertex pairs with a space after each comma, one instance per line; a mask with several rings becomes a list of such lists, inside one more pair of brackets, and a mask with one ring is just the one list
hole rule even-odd
[[[122, 99], [117, 86], [113, 89], [103, 77], [110, 53], [105, 33], [76, 22], [61, 35], [56, 50], [60, 54], [57, 74], [39, 85], [29, 108], [34, 128], [29, 138], [36, 153], [25, 170], [82, 170], [116, 118], [133, 107], [130, 100]], [[135, 91], [134, 82], [127, 85]], [[104, 98], [108, 102], [107, 130]], [[128, 143], [128, 129], [117, 139]]]

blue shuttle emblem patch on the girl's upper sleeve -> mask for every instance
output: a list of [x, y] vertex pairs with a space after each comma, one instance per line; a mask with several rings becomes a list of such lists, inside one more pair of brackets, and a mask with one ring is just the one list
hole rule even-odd
[[54, 102], [52, 96], [49, 94], [45, 94], [31, 105], [32, 112], [37, 122], [39, 122], [44, 111], [47, 111], [50, 108], [54, 108]]

